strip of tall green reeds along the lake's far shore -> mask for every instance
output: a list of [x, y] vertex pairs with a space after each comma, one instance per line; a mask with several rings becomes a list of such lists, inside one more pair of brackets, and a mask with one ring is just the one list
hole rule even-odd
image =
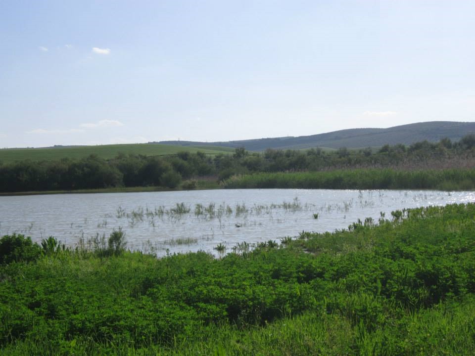
[[255, 173], [226, 179], [225, 188], [440, 189], [475, 188], [475, 169], [397, 171], [392, 169], [326, 172]]

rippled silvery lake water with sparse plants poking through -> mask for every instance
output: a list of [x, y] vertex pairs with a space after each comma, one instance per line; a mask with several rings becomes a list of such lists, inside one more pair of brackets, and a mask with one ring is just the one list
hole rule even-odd
[[[243, 241], [279, 241], [333, 231], [380, 212], [475, 201], [475, 192], [416, 190], [229, 189], [0, 197], [0, 235], [50, 235], [75, 246], [121, 227], [128, 247], [167, 252], [213, 250]], [[318, 214], [318, 219], [314, 218]]]

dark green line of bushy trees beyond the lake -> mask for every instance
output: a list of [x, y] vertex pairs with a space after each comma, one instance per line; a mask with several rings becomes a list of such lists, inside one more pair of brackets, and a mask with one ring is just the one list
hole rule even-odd
[[409, 146], [384, 145], [380, 149], [339, 148], [325, 151], [267, 149], [214, 157], [202, 152], [179, 152], [169, 156], [118, 154], [112, 159], [91, 155], [83, 159], [0, 162], [0, 191], [46, 191], [105, 187], [178, 187], [183, 179], [213, 177], [223, 180], [257, 172], [328, 171], [335, 169], [440, 169], [473, 167], [475, 135], [460, 141], [444, 138], [437, 143], [417, 142]]

